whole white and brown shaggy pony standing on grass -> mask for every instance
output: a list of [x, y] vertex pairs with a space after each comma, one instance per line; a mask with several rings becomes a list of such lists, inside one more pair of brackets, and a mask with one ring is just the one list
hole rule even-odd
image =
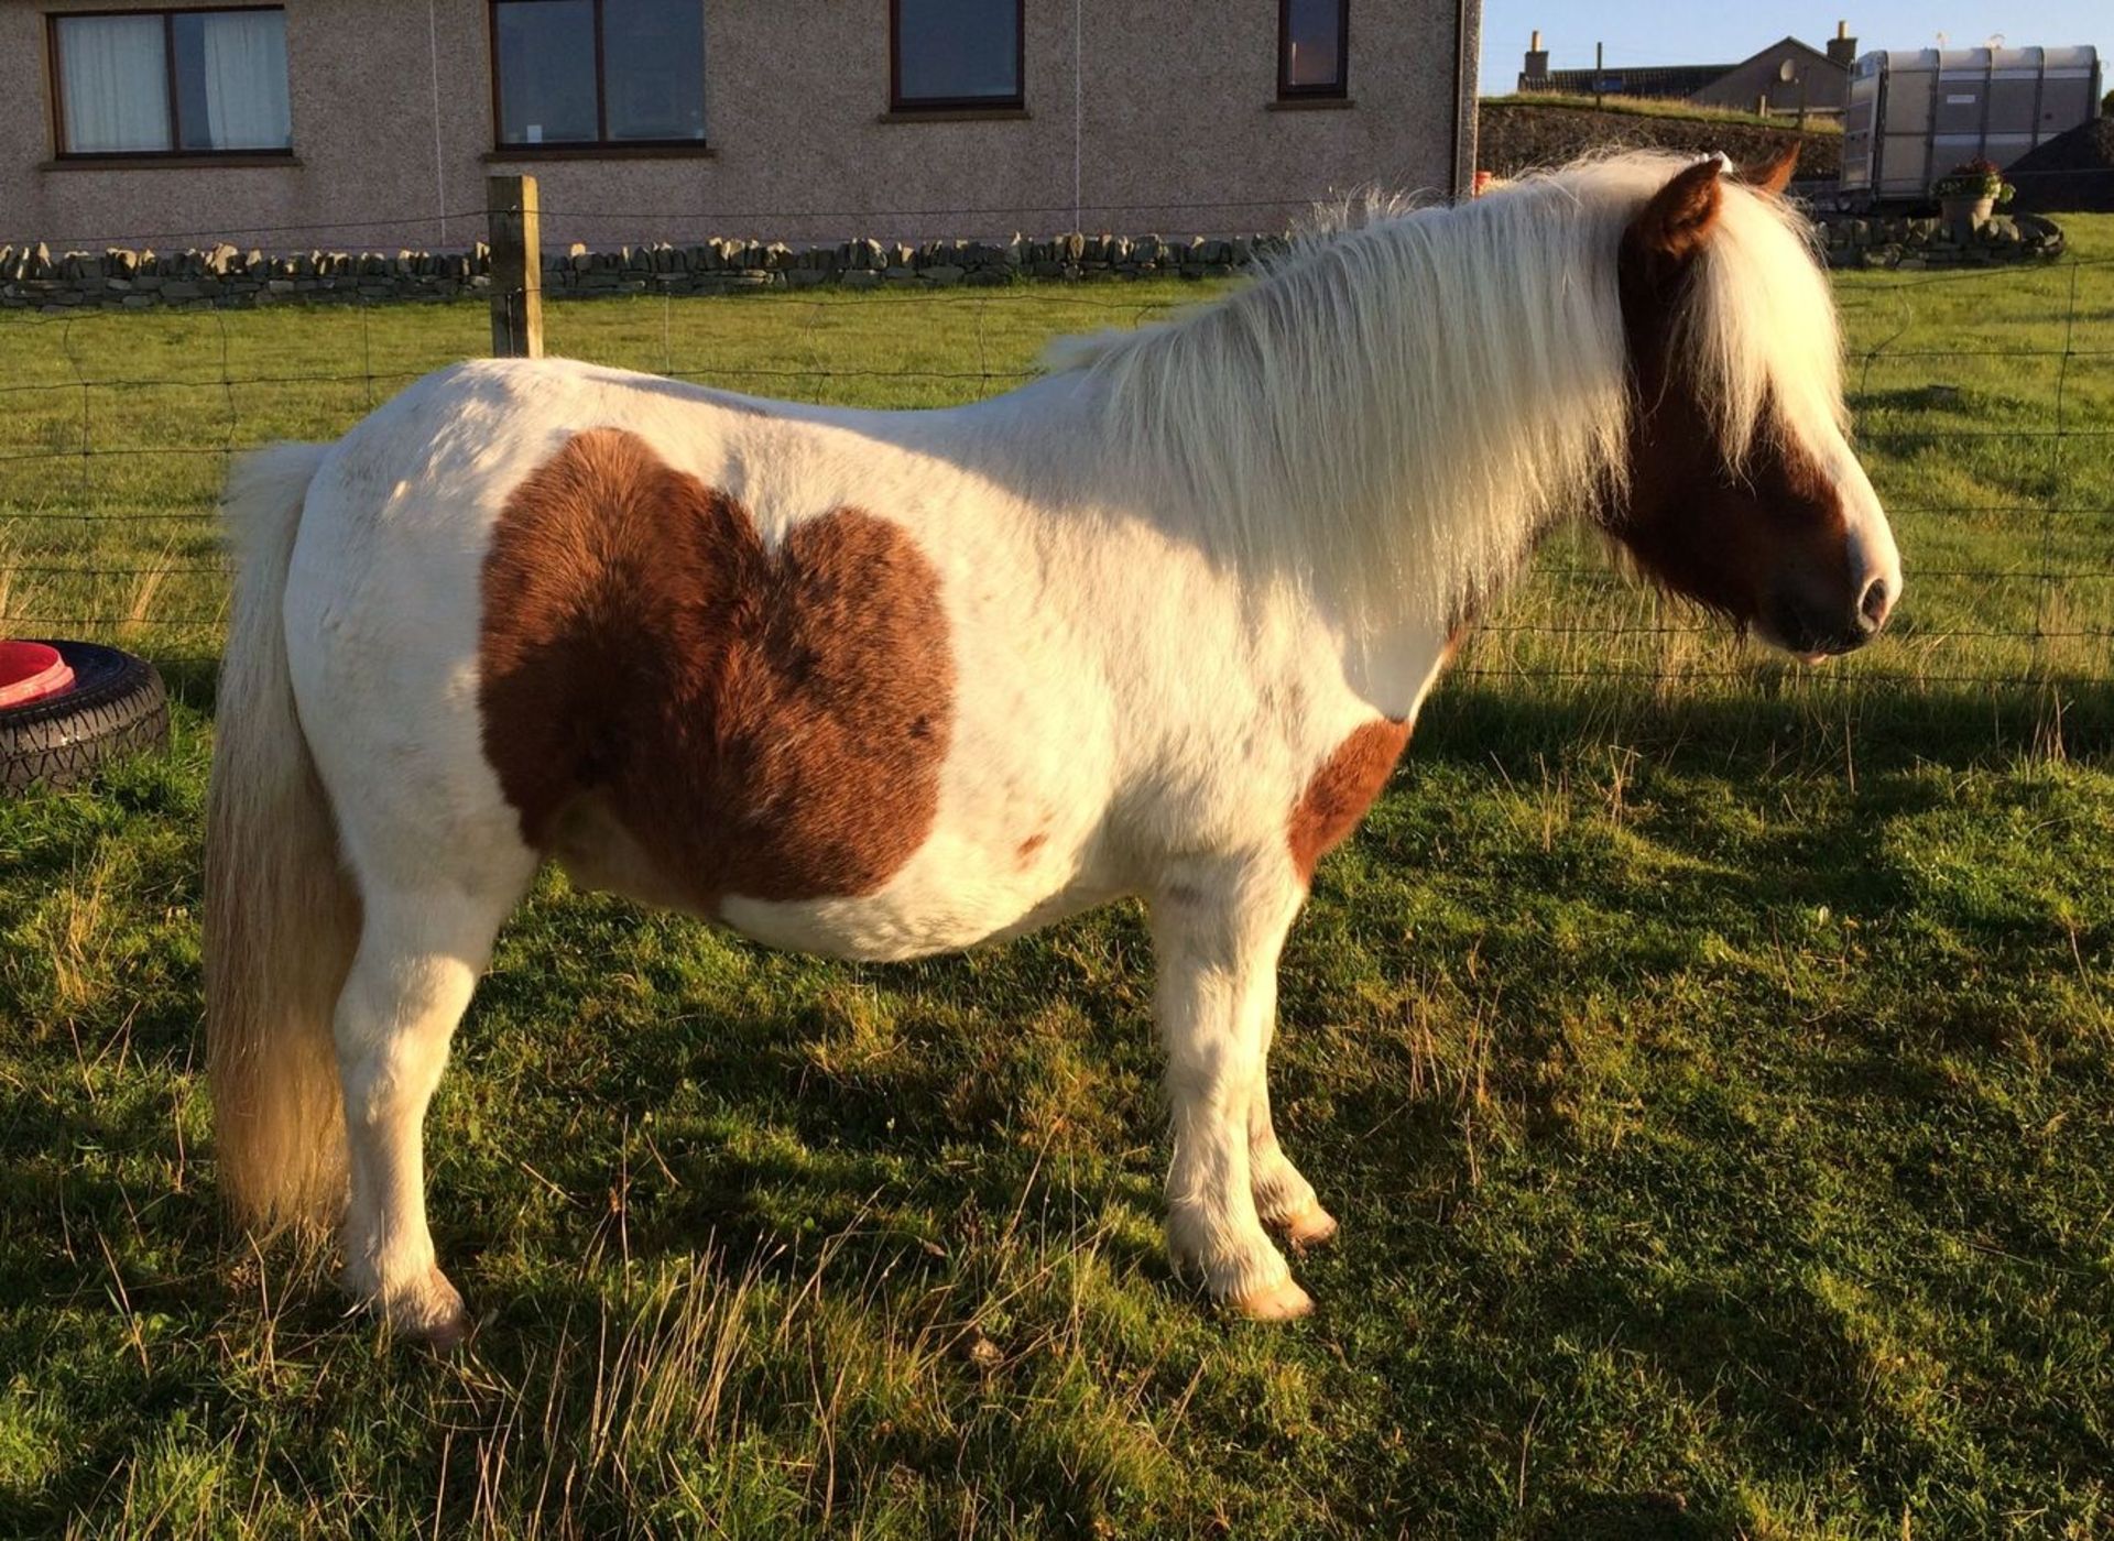
[[442, 370], [228, 490], [220, 1175], [452, 1340], [421, 1122], [537, 869], [837, 958], [1137, 894], [1177, 1264], [1309, 1308], [1275, 970], [1463, 617], [1560, 518], [1801, 655], [1900, 592], [1788, 167], [1636, 154], [1302, 245], [934, 412]]

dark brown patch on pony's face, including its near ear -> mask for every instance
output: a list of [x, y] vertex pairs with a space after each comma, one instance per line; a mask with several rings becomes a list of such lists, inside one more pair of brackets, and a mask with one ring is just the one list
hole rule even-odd
[[1674, 357], [1674, 313], [1723, 209], [1714, 161], [1666, 184], [1624, 235], [1617, 260], [1630, 347], [1630, 482], [1605, 512], [1638, 567], [1738, 626], [1793, 651], [1865, 640], [1860, 575], [1841, 495], [1769, 410], [1733, 467], [1706, 404]]

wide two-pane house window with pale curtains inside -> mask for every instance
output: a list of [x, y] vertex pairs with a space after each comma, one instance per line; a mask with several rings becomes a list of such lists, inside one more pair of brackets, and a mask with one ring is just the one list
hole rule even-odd
[[288, 154], [285, 11], [51, 17], [61, 156]]

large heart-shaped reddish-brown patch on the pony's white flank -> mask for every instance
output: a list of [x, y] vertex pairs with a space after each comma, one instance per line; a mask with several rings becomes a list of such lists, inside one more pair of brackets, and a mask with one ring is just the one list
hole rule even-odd
[[706, 911], [869, 894], [939, 807], [939, 573], [852, 507], [767, 552], [636, 433], [575, 433], [493, 528], [478, 706], [537, 850], [613, 820]]

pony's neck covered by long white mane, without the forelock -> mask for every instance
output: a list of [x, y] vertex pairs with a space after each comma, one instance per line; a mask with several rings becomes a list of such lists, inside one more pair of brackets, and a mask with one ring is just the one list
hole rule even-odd
[[1311, 590], [1361, 647], [1444, 634], [1619, 476], [1617, 237], [1560, 180], [1387, 213], [1070, 364], [1213, 558]]

